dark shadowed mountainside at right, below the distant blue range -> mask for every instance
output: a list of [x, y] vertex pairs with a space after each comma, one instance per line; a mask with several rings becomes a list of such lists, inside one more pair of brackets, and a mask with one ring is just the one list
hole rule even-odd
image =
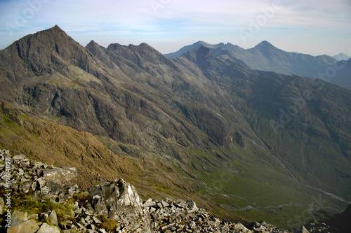
[[[192, 54], [183, 57], [189, 59]], [[346, 117], [351, 113], [350, 91], [321, 80], [277, 76], [239, 67], [228, 69], [234, 64], [212, 68], [203, 64], [204, 59], [212, 59], [211, 64], [220, 60], [206, 48], [197, 50], [196, 56], [196, 63], [205, 75], [228, 92], [227, 98], [232, 98], [232, 104], [243, 113], [251, 128], [296, 176], [316, 187], [331, 188], [338, 183], [333, 192], [339, 192], [345, 182], [350, 182], [343, 174], [345, 171], [350, 174], [345, 165], [350, 164], [351, 157], [350, 119]], [[177, 61], [183, 62], [182, 57]], [[325, 160], [319, 160], [320, 157]], [[337, 164], [333, 157], [339, 158]], [[331, 163], [336, 170], [321, 171]]]

